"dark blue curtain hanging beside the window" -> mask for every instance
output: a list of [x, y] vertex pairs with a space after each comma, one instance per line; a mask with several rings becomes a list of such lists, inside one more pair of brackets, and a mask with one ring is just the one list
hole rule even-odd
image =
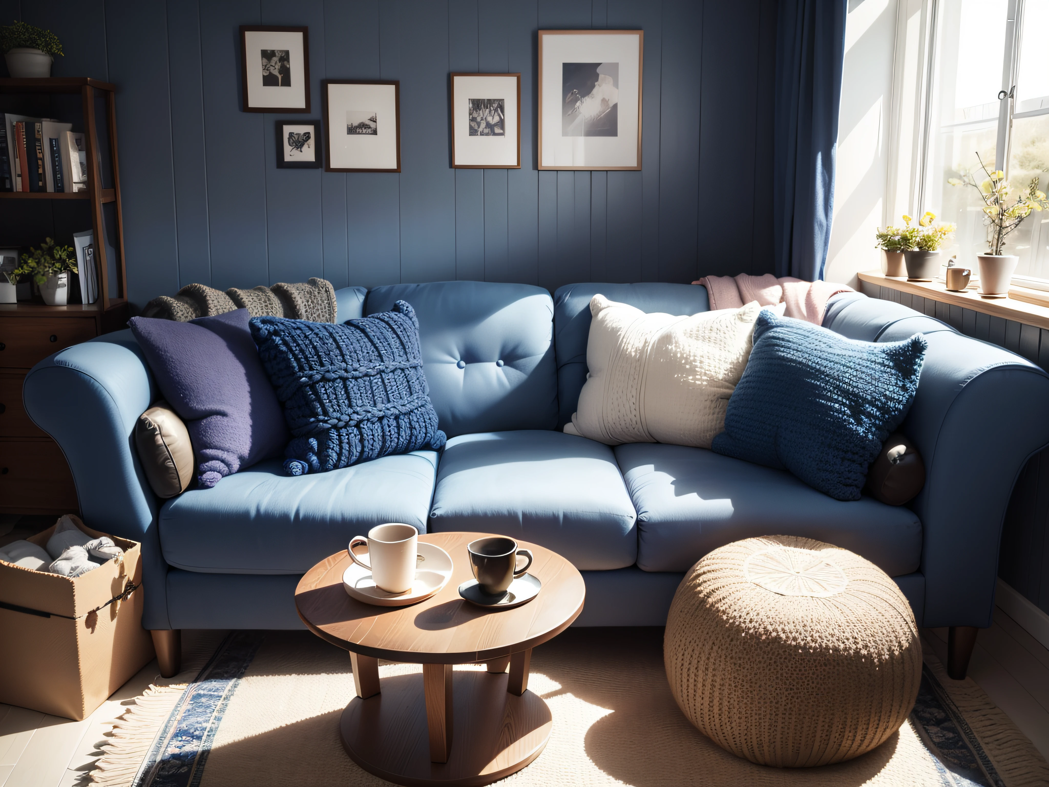
[[848, 0], [779, 0], [772, 170], [776, 276], [823, 278]]

